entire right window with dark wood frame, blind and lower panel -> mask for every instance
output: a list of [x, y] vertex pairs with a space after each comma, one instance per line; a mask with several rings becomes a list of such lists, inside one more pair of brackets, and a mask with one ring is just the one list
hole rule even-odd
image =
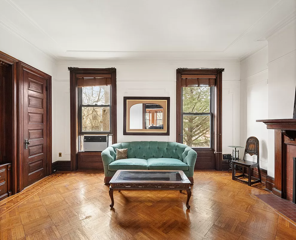
[[176, 71], [176, 141], [197, 152], [194, 169], [222, 170], [223, 68]]

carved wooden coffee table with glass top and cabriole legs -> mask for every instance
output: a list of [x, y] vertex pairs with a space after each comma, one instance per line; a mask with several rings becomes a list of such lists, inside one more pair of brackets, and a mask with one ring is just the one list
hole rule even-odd
[[186, 207], [191, 196], [190, 181], [183, 171], [177, 170], [118, 170], [110, 180], [110, 208], [114, 206], [113, 190], [186, 190]]

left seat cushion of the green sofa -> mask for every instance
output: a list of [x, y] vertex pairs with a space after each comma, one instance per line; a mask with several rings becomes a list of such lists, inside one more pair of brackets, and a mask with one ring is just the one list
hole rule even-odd
[[108, 170], [148, 170], [148, 163], [146, 159], [141, 158], [120, 159], [110, 163]]

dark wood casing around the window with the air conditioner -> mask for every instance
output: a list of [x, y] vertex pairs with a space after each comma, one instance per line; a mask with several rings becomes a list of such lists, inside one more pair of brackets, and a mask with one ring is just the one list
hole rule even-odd
[[[112, 129], [112, 143], [117, 143], [117, 100], [116, 100], [116, 68], [79, 68], [68, 67], [70, 71], [70, 128], [71, 128], [71, 171], [78, 169], [78, 151], [79, 151], [79, 121], [78, 121], [78, 77], [95, 77], [96, 74], [111, 74], [111, 109], [110, 115]], [[100, 132], [102, 133], [102, 132]]]

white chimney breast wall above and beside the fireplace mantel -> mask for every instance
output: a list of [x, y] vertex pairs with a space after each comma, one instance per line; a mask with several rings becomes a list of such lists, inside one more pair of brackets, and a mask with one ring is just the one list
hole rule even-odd
[[[296, 20], [268, 41], [268, 119], [293, 117], [296, 84]], [[268, 130], [268, 175], [274, 177], [274, 130]]]

